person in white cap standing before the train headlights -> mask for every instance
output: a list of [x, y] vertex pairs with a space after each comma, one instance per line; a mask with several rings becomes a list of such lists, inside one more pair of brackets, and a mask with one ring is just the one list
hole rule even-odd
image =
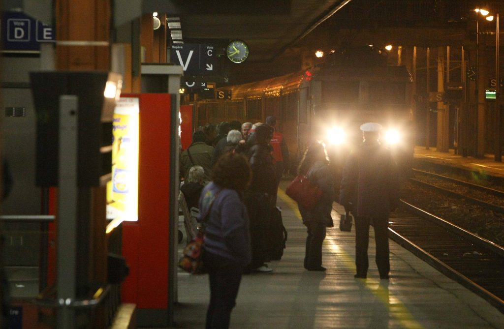
[[399, 204], [399, 174], [390, 150], [380, 144], [382, 125], [360, 126], [363, 143], [347, 159], [340, 186], [340, 204], [355, 217], [355, 278], [365, 279], [369, 266], [369, 224], [373, 223], [376, 266], [380, 279], [390, 272], [388, 222]]

